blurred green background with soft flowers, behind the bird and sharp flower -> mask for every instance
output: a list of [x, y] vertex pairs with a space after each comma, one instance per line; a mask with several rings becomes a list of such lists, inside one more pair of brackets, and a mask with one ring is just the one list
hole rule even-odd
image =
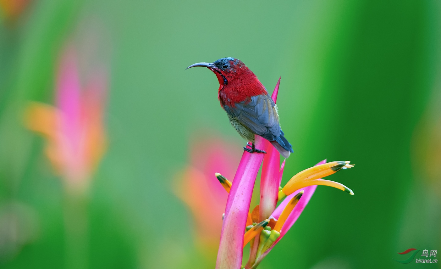
[[[221, 216], [209, 213], [226, 194], [211, 175], [232, 178], [245, 142], [215, 76], [184, 69], [221, 57], [269, 91], [282, 78], [294, 148], [283, 182], [325, 158], [356, 164], [330, 178], [355, 196], [319, 186], [259, 268], [441, 268], [392, 260], [441, 250], [439, 1], [0, 0], [0, 11], [1, 268], [214, 268]], [[102, 125], [75, 140], [98, 152], [73, 154], [79, 164], [51, 158], [71, 132], [46, 122], [63, 89], [75, 95], [60, 86], [75, 72], [76, 105], [97, 108], [78, 122]], [[32, 104], [52, 116], [33, 118]]]

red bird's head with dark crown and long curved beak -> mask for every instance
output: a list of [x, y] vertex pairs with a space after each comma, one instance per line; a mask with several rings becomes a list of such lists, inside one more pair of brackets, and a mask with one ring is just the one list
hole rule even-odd
[[242, 61], [232, 57], [221, 58], [212, 63], [192, 64], [187, 69], [196, 66], [206, 67], [216, 74], [220, 85], [219, 90], [228, 84], [243, 85], [257, 80], [256, 75]]

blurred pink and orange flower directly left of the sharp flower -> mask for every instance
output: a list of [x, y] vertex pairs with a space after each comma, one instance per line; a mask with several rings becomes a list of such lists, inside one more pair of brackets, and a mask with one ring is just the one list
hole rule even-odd
[[216, 172], [232, 177], [239, 163], [239, 145], [210, 137], [191, 143], [190, 165], [176, 174], [173, 191], [190, 208], [198, 246], [215, 252], [219, 245], [222, 213], [228, 193], [215, 177]]

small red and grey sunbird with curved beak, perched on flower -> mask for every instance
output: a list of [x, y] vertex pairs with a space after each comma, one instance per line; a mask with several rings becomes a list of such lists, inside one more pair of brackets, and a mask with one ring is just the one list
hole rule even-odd
[[247, 143], [251, 148], [243, 147], [244, 150], [266, 153], [255, 148], [254, 134], [257, 134], [269, 140], [284, 158], [294, 152], [280, 128], [277, 105], [257, 76], [242, 61], [226, 57], [212, 63], [191, 64], [186, 69], [198, 66], [216, 74], [221, 107], [239, 135], [252, 143]]

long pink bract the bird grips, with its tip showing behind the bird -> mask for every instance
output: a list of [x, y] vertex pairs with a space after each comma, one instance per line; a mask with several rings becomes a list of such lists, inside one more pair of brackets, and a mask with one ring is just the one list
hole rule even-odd
[[[279, 83], [280, 79], [271, 97], [274, 102], [277, 100]], [[266, 149], [268, 145], [268, 140], [262, 136], [255, 136], [256, 148]], [[243, 234], [250, 210], [254, 183], [264, 155], [246, 151], [242, 154], [225, 207], [216, 269], [238, 269], [242, 266]]]

